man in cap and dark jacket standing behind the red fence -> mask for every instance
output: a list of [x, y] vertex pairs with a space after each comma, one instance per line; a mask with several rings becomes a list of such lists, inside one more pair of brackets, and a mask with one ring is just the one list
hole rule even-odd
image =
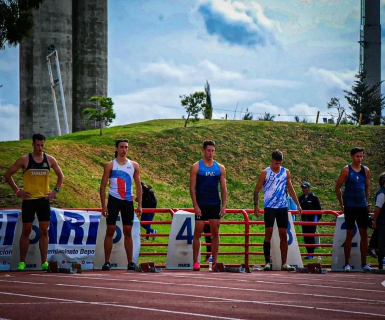
[[[298, 197], [302, 210], [322, 210], [318, 197], [310, 192], [310, 183], [304, 182], [301, 184], [302, 195]], [[316, 222], [321, 220], [321, 214], [301, 214], [301, 221]], [[302, 225], [302, 233], [315, 233], [317, 231], [316, 225]], [[315, 237], [305, 237], [305, 244], [315, 244]], [[313, 260], [314, 247], [305, 247], [308, 255], [305, 259]]]

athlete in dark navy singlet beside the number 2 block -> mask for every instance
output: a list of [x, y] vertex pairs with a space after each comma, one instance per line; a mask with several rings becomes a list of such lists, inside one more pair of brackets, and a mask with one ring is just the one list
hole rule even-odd
[[[361, 236], [361, 266], [364, 272], [370, 272], [371, 268], [366, 264], [366, 252], [368, 249], [368, 204], [370, 170], [363, 166], [364, 148], [355, 147], [350, 150], [352, 163], [346, 165], [340, 173], [336, 183], [336, 195], [345, 217], [346, 238], [344, 243], [345, 265], [344, 271], [350, 272], [349, 265], [351, 241], [355, 222]], [[344, 196], [341, 195], [341, 187], [345, 183]]]

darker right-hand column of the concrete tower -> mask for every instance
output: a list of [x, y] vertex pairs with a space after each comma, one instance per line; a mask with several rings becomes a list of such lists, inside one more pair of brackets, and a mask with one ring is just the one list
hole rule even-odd
[[73, 1], [72, 131], [95, 128], [83, 121], [89, 97], [107, 96], [107, 0]]

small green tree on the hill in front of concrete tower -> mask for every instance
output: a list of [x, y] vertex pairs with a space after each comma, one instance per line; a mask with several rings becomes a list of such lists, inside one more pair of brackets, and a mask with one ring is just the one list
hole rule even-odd
[[89, 101], [95, 104], [95, 108], [85, 108], [83, 114], [88, 121], [95, 120], [99, 124], [100, 135], [102, 135], [102, 127], [108, 127], [116, 118], [112, 107], [114, 103], [110, 97], [101, 96], [90, 97]]

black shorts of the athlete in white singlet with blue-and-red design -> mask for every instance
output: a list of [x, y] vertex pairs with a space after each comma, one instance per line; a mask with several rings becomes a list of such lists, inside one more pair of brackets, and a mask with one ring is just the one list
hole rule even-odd
[[134, 223], [134, 202], [121, 200], [108, 196], [107, 202], [108, 217], [106, 218], [107, 225], [116, 225], [116, 220], [121, 215], [123, 225], [133, 225]]

